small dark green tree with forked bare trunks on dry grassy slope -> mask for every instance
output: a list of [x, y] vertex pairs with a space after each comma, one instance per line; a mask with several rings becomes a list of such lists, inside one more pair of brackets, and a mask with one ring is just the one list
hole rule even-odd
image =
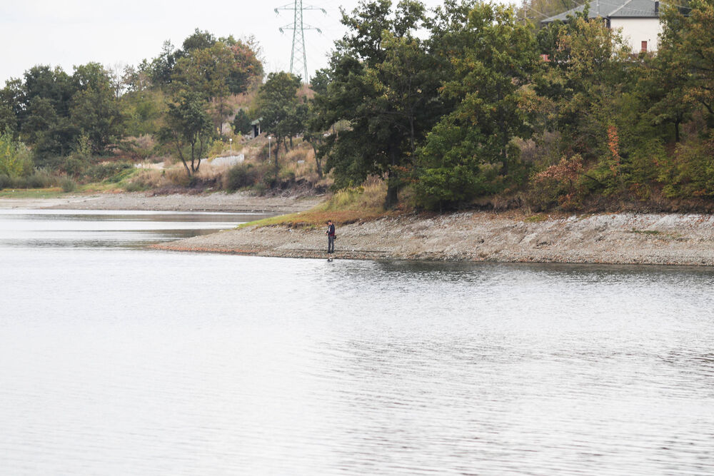
[[[166, 112], [166, 126], [161, 128], [159, 137], [164, 143], [176, 147], [186, 173], [191, 176], [201, 167], [201, 157], [213, 137], [211, 118], [205, 110], [205, 102], [198, 93], [183, 91], [169, 103]], [[189, 166], [190, 161], [190, 166]]]

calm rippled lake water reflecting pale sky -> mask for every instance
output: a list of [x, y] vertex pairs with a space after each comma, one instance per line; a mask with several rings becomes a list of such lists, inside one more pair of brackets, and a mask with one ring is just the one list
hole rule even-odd
[[714, 271], [139, 245], [0, 211], [5, 475], [711, 475]]

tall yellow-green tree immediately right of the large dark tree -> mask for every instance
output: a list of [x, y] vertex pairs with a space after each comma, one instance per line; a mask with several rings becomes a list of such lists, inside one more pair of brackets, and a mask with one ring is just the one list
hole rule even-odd
[[463, 50], [451, 53], [443, 85], [457, 105], [419, 154], [418, 197], [430, 207], [497, 191], [496, 176], [508, 176], [517, 157], [511, 139], [530, 133], [521, 96], [539, 63], [531, 29], [511, 8], [477, 4], [460, 30]]

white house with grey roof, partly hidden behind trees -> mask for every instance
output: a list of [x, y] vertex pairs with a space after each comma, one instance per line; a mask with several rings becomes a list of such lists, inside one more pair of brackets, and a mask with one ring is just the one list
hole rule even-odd
[[[585, 5], [580, 5], [541, 23], [567, 21], [568, 16], [575, 16], [575, 12], [583, 9]], [[629, 44], [635, 53], [657, 51], [658, 35], [662, 32], [658, 0], [592, 0], [588, 18], [603, 18], [608, 28], [622, 29], [625, 44]]]

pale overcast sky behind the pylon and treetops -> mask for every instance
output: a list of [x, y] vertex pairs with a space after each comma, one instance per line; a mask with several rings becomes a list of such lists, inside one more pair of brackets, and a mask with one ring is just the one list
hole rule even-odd
[[[395, 1], [396, 3], [396, 1]], [[441, 0], [426, 0], [437, 6]], [[280, 26], [293, 21], [292, 11], [274, 8], [292, 6], [290, 0], [1, 0], [0, 86], [20, 78], [36, 64], [61, 66], [69, 74], [73, 66], [98, 61], [105, 66], [136, 65], [161, 51], [164, 40], [181, 46], [194, 29], [216, 36], [256, 36], [263, 47], [267, 71], [288, 70], [292, 31], [281, 34]], [[358, 0], [303, 0], [303, 22], [322, 30], [306, 31], [308, 70], [326, 66], [333, 41], [340, 38], [339, 7], [351, 11]]]

